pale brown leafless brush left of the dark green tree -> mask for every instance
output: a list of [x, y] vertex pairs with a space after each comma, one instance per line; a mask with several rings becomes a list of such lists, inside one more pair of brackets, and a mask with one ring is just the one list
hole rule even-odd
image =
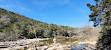
[[83, 28], [78, 28], [75, 32], [77, 33], [80, 40], [90, 40], [97, 41], [100, 35], [99, 27], [90, 27], [89, 25], [84, 26]]

